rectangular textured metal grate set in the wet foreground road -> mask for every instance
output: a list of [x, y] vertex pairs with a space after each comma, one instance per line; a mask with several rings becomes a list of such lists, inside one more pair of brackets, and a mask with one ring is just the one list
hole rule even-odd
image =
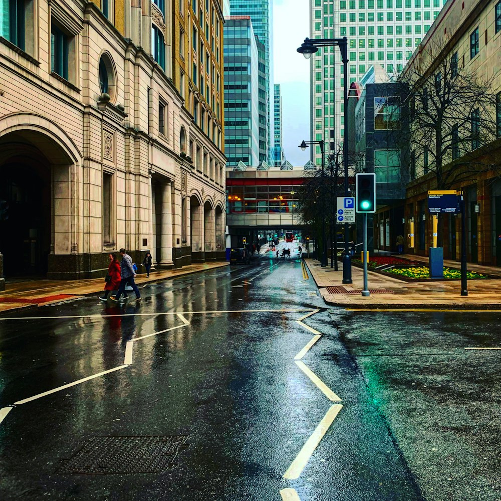
[[72, 457], [63, 459], [57, 473], [162, 473], [174, 466], [187, 439], [188, 435], [94, 437]]

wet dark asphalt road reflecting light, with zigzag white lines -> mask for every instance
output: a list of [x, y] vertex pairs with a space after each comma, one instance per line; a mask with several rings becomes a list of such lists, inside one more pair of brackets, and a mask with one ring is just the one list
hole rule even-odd
[[[0, 499], [501, 499], [501, 350], [464, 349], [501, 347], [500, 314], [326, 308], [292, 255], [0, 316], [0, 408], [110, 371], [9, 412]], [[340, 401], [294, 360], [316, 309], [301, 362]]]

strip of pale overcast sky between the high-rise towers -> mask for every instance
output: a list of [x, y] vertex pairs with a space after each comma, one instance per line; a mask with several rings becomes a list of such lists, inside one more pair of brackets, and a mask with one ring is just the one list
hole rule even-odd
[[296, 51], [309, 36], [309, 4], [273, 1], [274, 84], [280, 84], [282, 93], [282, 146], [293, 165], [310, 159], [309, 149], [298, 148], [303, 139], [310, 140], [310, 63]]

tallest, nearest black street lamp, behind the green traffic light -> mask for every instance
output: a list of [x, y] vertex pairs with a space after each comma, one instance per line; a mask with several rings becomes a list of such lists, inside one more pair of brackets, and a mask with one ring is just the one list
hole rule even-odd
[[[300, 54], [306, 59], [310, 59], [312, 54], [318, 51], [319, 47], [332, 47], [337, 46], [341, 52], [341, 61], [343, 62], [343, 97], [344, 97], [344, 138], [343, 138], [343, 164], [344, 164], [344, 187], [345, 196], [348, 196], [348, 39], [343, 38], [305, 38], [303, 44], [298, 49]], [[303, 141], [304, 142], [304, 141]], [[322, 154], [322, 162], [324, 155]], [[345, 252], [343, 256], [343, 284], [351, 284], [351, 258], [349, 251], [349, 228], [348, 223], [345, 222]]]

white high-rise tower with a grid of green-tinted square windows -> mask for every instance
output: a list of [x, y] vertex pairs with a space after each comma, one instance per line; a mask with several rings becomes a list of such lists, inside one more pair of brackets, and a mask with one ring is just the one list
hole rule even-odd
[[[446, 0], [310, 0], [310, 38], [348, 38], [348, 87], [378, 63], [398, 75]], [[343, 140], [343, 65], [338, 47], [311, 58], [311, 138]], [[320, 147], [313, 161], [321, 164]], [[329, 151], [327, 150], [326, 153]]]

